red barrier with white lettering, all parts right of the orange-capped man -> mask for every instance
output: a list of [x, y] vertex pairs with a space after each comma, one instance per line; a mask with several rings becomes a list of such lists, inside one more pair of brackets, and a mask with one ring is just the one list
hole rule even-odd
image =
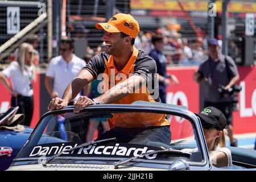
[[[167, 88], [167, 103], [188, 106], [188, 110], [198, 113], [199, 85], [193, 81], [193, 72], [197, 67], [168, 68], [180, 81], [180, 85], [170, 85]], [[238, 67], [242, 91], [238, 95], [240, 110], [233, 112], [234, 134], [256, 133], [256, 67]], [[185, 138], [192, 134], [191, 127], [184, 122], [178, 124], [179, 118], [173, 117], [171, 129], [176, 132], [172, 138]]]

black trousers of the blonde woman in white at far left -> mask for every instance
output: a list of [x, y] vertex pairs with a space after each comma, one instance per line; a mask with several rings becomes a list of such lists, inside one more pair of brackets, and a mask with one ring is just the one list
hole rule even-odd
[[25, 96], [11, 96], [11, 106], [19, 106], [19, 110], [16, 114], [24, 114], [25, 118], [20, 123], [21, 125], [30, 126], [33, 110], [34, 110], [34, 97], [25, 97]]

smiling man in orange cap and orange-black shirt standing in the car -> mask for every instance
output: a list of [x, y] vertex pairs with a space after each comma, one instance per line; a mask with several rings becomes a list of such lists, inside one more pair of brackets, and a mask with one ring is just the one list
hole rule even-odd
[[[155, 60], [133, 46], [139, 33], [139, 24], [133, 16], [116, 14], [108, 23], [96, 23], [95, 26], [105, 30], [102, 38], [106, 45], [105, 52], [90, 59], [65, 89], [63, 98], [51, 100], [48, 110], [67, 106], [85, 85], [101, 75], [104, 77], [104, 94], [92, 100], [81, 96], [74, 103], [75, 113], [93, 104], [131, 104], [138, 100], [160, 102]], [[170, 143], [170, 123], [166, 115], [136, 113], [127, 117], [129, 122], [123, 122], [122, 114], [114, 114], [108, 119], [111, 130], [98, 139], [116, 135], [117, 140], [122, 142], [142, 144], [153, 140]]]

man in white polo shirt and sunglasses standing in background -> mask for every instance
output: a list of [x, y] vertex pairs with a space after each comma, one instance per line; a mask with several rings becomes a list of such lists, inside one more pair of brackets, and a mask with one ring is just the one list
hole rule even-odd
[[[73, 52], [73, 41], [71, 39], [61, 40], [60, 56], [53, 57], [46, 72], [45, 85], [51, 98], [62, 97], [69, 82], [85, 67], [85, 61]], [[74, 100], [79, 97], [80, 94]]]

